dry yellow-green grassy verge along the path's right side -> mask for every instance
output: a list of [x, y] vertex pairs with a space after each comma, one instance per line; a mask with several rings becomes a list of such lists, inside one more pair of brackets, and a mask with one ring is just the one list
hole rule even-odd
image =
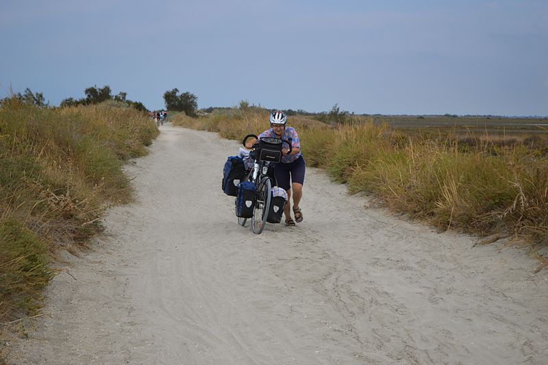
[[[259, 108], [234, 108], [173, 122], [240, 140], [266, 129], [267, 116]], [[363, 117], [329, 127], [290, 116], [288, 124], [297, 127], [308, 166], [324, 168], [350, 192], [373, 193], [382, 205], [440, 229], [548, 244], [544, 147], [494, 144], [470, 131], [410, 134]]]

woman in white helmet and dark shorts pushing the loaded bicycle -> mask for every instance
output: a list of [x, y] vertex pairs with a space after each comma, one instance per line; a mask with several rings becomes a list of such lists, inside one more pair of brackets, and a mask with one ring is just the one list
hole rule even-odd
[[[271, 129], [262, 132], [259, 138], [281, 138], [291, 141], [291, 153], [288, 155], [289, 146], [284, 142], [282, 146], [282, 160], [279, 164], [274, 164], [274, 176], [277, 184], [287, 192], [288, 202], [284, 207], [284, 215], [286, 217], [286, 225], [294, 226], [295, 221], [300, 223], [303, 221], [303, 213], [299, 203], [303, 197], [304, 174], [306, 164], [301, 154], [301, 142], [299, 135], [293, 127], [286, 127], [287, 115], [284, 112], [272, 112], [269, 117]], [[251, 149], [253, 144], [256, 144], [256, 138], [251, 138], [246, 141], [245, 147]], [[287, 148], [286, 148], [287, 147]], [[291, 191], [292, 190], [292, 191]], [[291, 218], [290, 198], [293, 197], [293, 214], [295, 221]]]

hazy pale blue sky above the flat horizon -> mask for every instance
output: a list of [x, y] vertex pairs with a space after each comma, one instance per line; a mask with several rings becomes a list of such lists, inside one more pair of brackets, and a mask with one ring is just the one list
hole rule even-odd
[[0, 0], [0, 97], [548, 115], [547, 0]]

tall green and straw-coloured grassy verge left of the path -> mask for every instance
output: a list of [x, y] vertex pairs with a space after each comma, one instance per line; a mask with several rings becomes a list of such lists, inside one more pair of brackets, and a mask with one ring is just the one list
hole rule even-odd
[[0, 108], [0, 323], [38, 312], [55, 249], [84, 242], [109, 204], [130, 199], [123, 162], [157, 134], [145, 114], [112, 103]]

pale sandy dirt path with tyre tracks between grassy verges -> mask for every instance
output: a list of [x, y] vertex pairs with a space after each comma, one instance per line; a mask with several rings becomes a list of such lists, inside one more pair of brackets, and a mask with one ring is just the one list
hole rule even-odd
[[305, 220], [251, 233], [221, 171], [238, 144], [169, 125], [127, 166], [16, 364], [548, 364], [548, 275], [523, 249], [366, 208], [309, 168]]

